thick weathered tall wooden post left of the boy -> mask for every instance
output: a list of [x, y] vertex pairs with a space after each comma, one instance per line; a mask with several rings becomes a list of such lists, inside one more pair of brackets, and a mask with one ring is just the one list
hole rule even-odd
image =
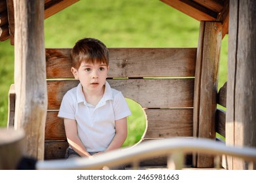
[[47, 108], [44, 1], [14, 1], [15, 128], [26, 133], [26, 156], [43, 159]]

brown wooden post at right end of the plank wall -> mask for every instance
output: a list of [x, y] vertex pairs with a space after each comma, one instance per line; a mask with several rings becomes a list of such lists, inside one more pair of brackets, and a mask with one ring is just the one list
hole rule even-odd
[[[215, 110], [217, 107], [217, 77], [221, 51], [222, 25], [219, 22], [200, 23], [194, 83], [193, 136], [215, 139]], [[194, 154], [193, 166], [213, 167], [214, 158]]]

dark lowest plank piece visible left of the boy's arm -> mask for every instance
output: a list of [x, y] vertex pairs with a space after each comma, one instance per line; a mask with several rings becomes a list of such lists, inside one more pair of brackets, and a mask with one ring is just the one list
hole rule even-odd
[[64, 159], [68, 146], [67, 141], [45, 141], [45, 160]]

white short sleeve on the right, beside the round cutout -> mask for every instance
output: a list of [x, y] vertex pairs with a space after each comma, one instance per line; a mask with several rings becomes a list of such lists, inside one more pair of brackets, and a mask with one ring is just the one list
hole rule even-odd
[[115, 95], [113, 107], [115, 112], [115, 120], [120, 120], [132, 114], [121, 92]]

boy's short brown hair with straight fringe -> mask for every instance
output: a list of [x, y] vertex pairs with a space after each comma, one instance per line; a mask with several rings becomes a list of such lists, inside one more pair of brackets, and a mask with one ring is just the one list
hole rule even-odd
[[109, 50], [98, 39], [84, 38], [71, 50], [72, 66], [79, 69], [82, 62], [104, 63], [109, 66]]

